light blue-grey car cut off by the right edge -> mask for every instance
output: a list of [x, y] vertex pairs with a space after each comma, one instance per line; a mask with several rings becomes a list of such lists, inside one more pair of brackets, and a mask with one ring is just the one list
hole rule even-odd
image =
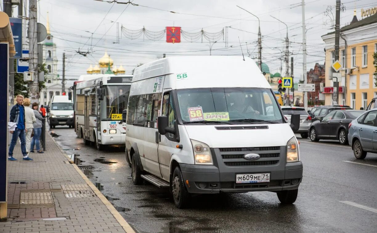
[[357, 159], [365, 159], [367, 152], [377, 153], [377, 109], [365, 112], [349, 124], [348, 144]]

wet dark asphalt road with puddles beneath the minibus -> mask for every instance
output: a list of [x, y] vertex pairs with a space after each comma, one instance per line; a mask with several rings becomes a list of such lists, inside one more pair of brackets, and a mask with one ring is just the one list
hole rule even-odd
[[191, 208], [180, 210], [169, 190], [132, 184], [124, 147], [98, 151], [73, 129], [51, 132], [68, 155], [79, 155], [82, 171], [138, 232], [377, 231], [377, 154], [360, 161], [336, 141], [299, 139], [304, 175], [293, 205], [281, 205], [276, 193], [228, 193], [196, 196]]

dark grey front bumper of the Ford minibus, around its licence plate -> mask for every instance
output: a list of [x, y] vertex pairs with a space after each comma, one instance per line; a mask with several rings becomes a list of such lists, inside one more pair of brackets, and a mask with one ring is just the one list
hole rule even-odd
[[[216, 149], [212, 151], [215, 152]], [[186, 187], [190, 193], [276, 192], [297, 189], [302, 181], [302, 162], [287, 163], [285, 149], [282, 149], [282, 152], [284, 152], [284, 154], [281, 153], [284, 158], [280, 158], [280, 162], [272, 166], [225, 166], [221, 155], [216, 152], [216, 159], [213, 159], [214, 165], [179, 164], [179, 166], [184, 181], [189, 182]], [[270, 173], [270, 182], [236, 184], [236, 174], [242, 173]]]

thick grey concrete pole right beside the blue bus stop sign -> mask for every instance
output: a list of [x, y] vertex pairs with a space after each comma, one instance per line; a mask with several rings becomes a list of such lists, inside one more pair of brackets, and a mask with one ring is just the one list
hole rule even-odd
[[34, 81], [29, 84], [29, 98], [38, 102], [38, 26], [37, 26], [37, 0], [29, 0], [29, 72]]

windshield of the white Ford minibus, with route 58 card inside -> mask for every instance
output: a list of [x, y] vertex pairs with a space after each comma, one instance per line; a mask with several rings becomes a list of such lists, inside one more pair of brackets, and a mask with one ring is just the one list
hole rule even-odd
[[[270, 89], [252, 87], [177, 90], [183, 123], [222, 121], [240, 124], [283, 123]], [[264, 122], [265, 121], [265, 122]]]

